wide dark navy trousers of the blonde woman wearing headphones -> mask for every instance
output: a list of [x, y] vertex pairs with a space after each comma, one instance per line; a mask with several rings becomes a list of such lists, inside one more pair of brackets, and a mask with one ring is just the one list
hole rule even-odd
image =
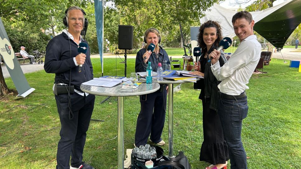
[[163, 85], [160, 90], [140, 96], [141, 110], [138, 115], [135, 145], [145, 145], [150, 135], [150, 140], [159, 143], [162, 138], [166, 113], [166, 86]]

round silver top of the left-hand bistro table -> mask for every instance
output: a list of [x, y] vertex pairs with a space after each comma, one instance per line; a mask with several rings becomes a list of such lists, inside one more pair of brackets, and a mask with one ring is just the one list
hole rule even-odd
[[114, 87], [98, 87], [98, 86], [90, 86], [90, 85], [81, 85], [81, 90], [83, 92], [87, 92], [99, 96], [138, 96], [138, 95], [144, 95], [144, 94], [156, 92], [160, 88], [160, 85], [157, 82], [153, 82], [152, 84], [141, 83], [139, 87], [137, 87], [131, 92], [119, 90], [121, 86], [122, 84], [119, 84]]

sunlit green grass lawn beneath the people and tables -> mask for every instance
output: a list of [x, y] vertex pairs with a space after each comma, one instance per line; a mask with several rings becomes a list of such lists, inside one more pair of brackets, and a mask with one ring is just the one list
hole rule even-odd
[[[128, 59], [127, 74], [134, 72], [135, 59]], [[94, 77], [101, 76], [101, 64], [93, 58]], [[104, 59], [104, 75], [116, 75], [115, 59]], [[242, 125], [242, 142], [249, 169], [299, 168], [301, 166], [301, 73], [281, 59], [264, 66], [267, 74], [252, 75], [247, 90], [249, 112]], [[117, 61], [117, 75], [124, 64]], [[25, 74], [36, 90], [26, 98], [0, 97], [0, 165], [15, 169], [54, 169], [60, 122], [52, 86], [54, 74], [44, 70]], [[6, 78], [9, 88], [15, 88]], [[209, 164], [199, 161], [203, 141], [200, 91], [193, 83], [181, 85], [174, 94], [174, 154], [184, 151], [192, 169]], [[84, 161], [96, 169], [117, 168], [117, 101], [96, 96], [87, 132]], [[125, 149], [134, 148], [139, 97], [125, 97]], [[167, 106], [168, 107], [168, 106]], [[168, 115], [168, 114], [167, 114]], [[162, 138], [168, 144], [168, 118]], [[162, 146], [165, 155], [168, 145]], [[126, 150], [125, 150], [126, 152]], [[228, 165], [230, 167], [230, 165]]]

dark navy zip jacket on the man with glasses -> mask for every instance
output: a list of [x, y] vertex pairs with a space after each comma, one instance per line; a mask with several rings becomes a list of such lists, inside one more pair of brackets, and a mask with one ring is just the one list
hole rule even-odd
[[[87, 41], [83, 40], [82, 42], [87, 43]], [[93, 67], [90, 59], [89, 45], [85, 64], [82, 65], [81, 72], [78, 72], [78, 66], [75, 66], [73, 61], [73, 57], [78, 54], [78, 45], [72, 39], [69, 39], [65, 33], [61, 33], [49, 41], [46, 47], [44, 69], [46, 73], [55, 73], [54, 83], [69, 84], [70, 69], [71, 85], [74, 85], [74, 88], [78, 91], [81, 91], [80, 85], [83, 82], [93, 79]]]

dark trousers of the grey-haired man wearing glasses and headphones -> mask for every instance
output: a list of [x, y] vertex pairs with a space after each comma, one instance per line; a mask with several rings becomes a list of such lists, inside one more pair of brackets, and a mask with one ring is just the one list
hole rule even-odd
[[71, 94], [71, 105], [74, 117], [69, 119], [68, 94], [55, 95], [56, 104], [61, 122], [59, 132], [60, 140], [56, 155], [56, 169], [69, 169], [70, 155], [71, 165], [79, 165], [82, 162], [82, 153], [86, 142], [86, 132], [89, 128], [95, 96], [81, 96], [78, 93]]

